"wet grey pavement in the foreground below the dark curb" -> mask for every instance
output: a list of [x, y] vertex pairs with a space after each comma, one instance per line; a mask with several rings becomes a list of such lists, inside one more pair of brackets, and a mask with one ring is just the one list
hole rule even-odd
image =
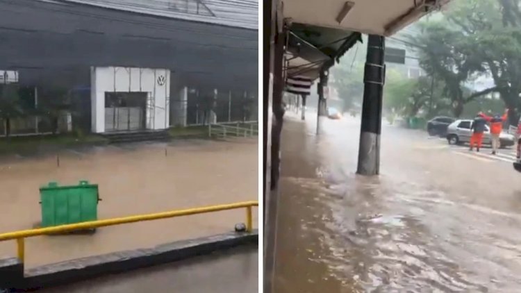
[[38, 292], [253, 293], [258, 292], [258, 251], [234, 249], [214, 256], [201, 256]]

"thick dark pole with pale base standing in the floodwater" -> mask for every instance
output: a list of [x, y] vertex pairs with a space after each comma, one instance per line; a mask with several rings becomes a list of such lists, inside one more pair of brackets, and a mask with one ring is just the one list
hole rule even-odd
[[357, 174], [377, 175], [380, 171], [380, 134], [383, 83], [386, 66], [383, 53], [385, 38], [369, 35], [364, 70], [362, 124], [358, 149]]

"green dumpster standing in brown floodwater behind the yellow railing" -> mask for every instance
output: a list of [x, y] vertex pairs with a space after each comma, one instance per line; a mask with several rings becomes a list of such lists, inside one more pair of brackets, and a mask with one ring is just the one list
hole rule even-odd
[[99, 200], [98, 185], [88, 181], [69, 186], [51, 182], [40, 187], [42, 227], [97, 220]]

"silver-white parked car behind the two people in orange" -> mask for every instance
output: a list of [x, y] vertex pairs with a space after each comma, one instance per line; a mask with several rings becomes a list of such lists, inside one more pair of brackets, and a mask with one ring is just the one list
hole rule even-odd
[[[469, 143], [470, 136], [472, 136], [470, 126], [472, 126], [472, 120], [470, 119], [459, 119], [452, 122], [452, 124], [447, 127], [447, 141], [449, 144]], [[485, 127], [486, 131], [483, 133], [483, 144], [491, 144], [490, 128], [488, 128], [488, 125]], [[499, 135], [499, 141], [501, 142], [501, 148], [511, 147], [515, 144], [515, 137], [511, 134], [502, 132]]]

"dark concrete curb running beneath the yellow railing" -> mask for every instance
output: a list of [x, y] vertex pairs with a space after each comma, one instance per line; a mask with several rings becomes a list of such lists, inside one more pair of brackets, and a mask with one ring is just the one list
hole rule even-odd
[[[67, 260], [28, 269], [24, 276], [20, 276], [22, 263], [17, 258], [8, 258], [0, 260], [0, 288], [13, 288], [8, 292], [19, 292], [19, 290], [54, 287], [106, 274], [118, 274], [132, 269], [163, 265], [246, 245], [258, 245], [258, 230], [252, 233], [233, 232], [195, 240], [183, 240], [162, 244], [151, 249], [118, 251], [101, 256]], [[1, 289], [0, 292], [2, 292]]]

